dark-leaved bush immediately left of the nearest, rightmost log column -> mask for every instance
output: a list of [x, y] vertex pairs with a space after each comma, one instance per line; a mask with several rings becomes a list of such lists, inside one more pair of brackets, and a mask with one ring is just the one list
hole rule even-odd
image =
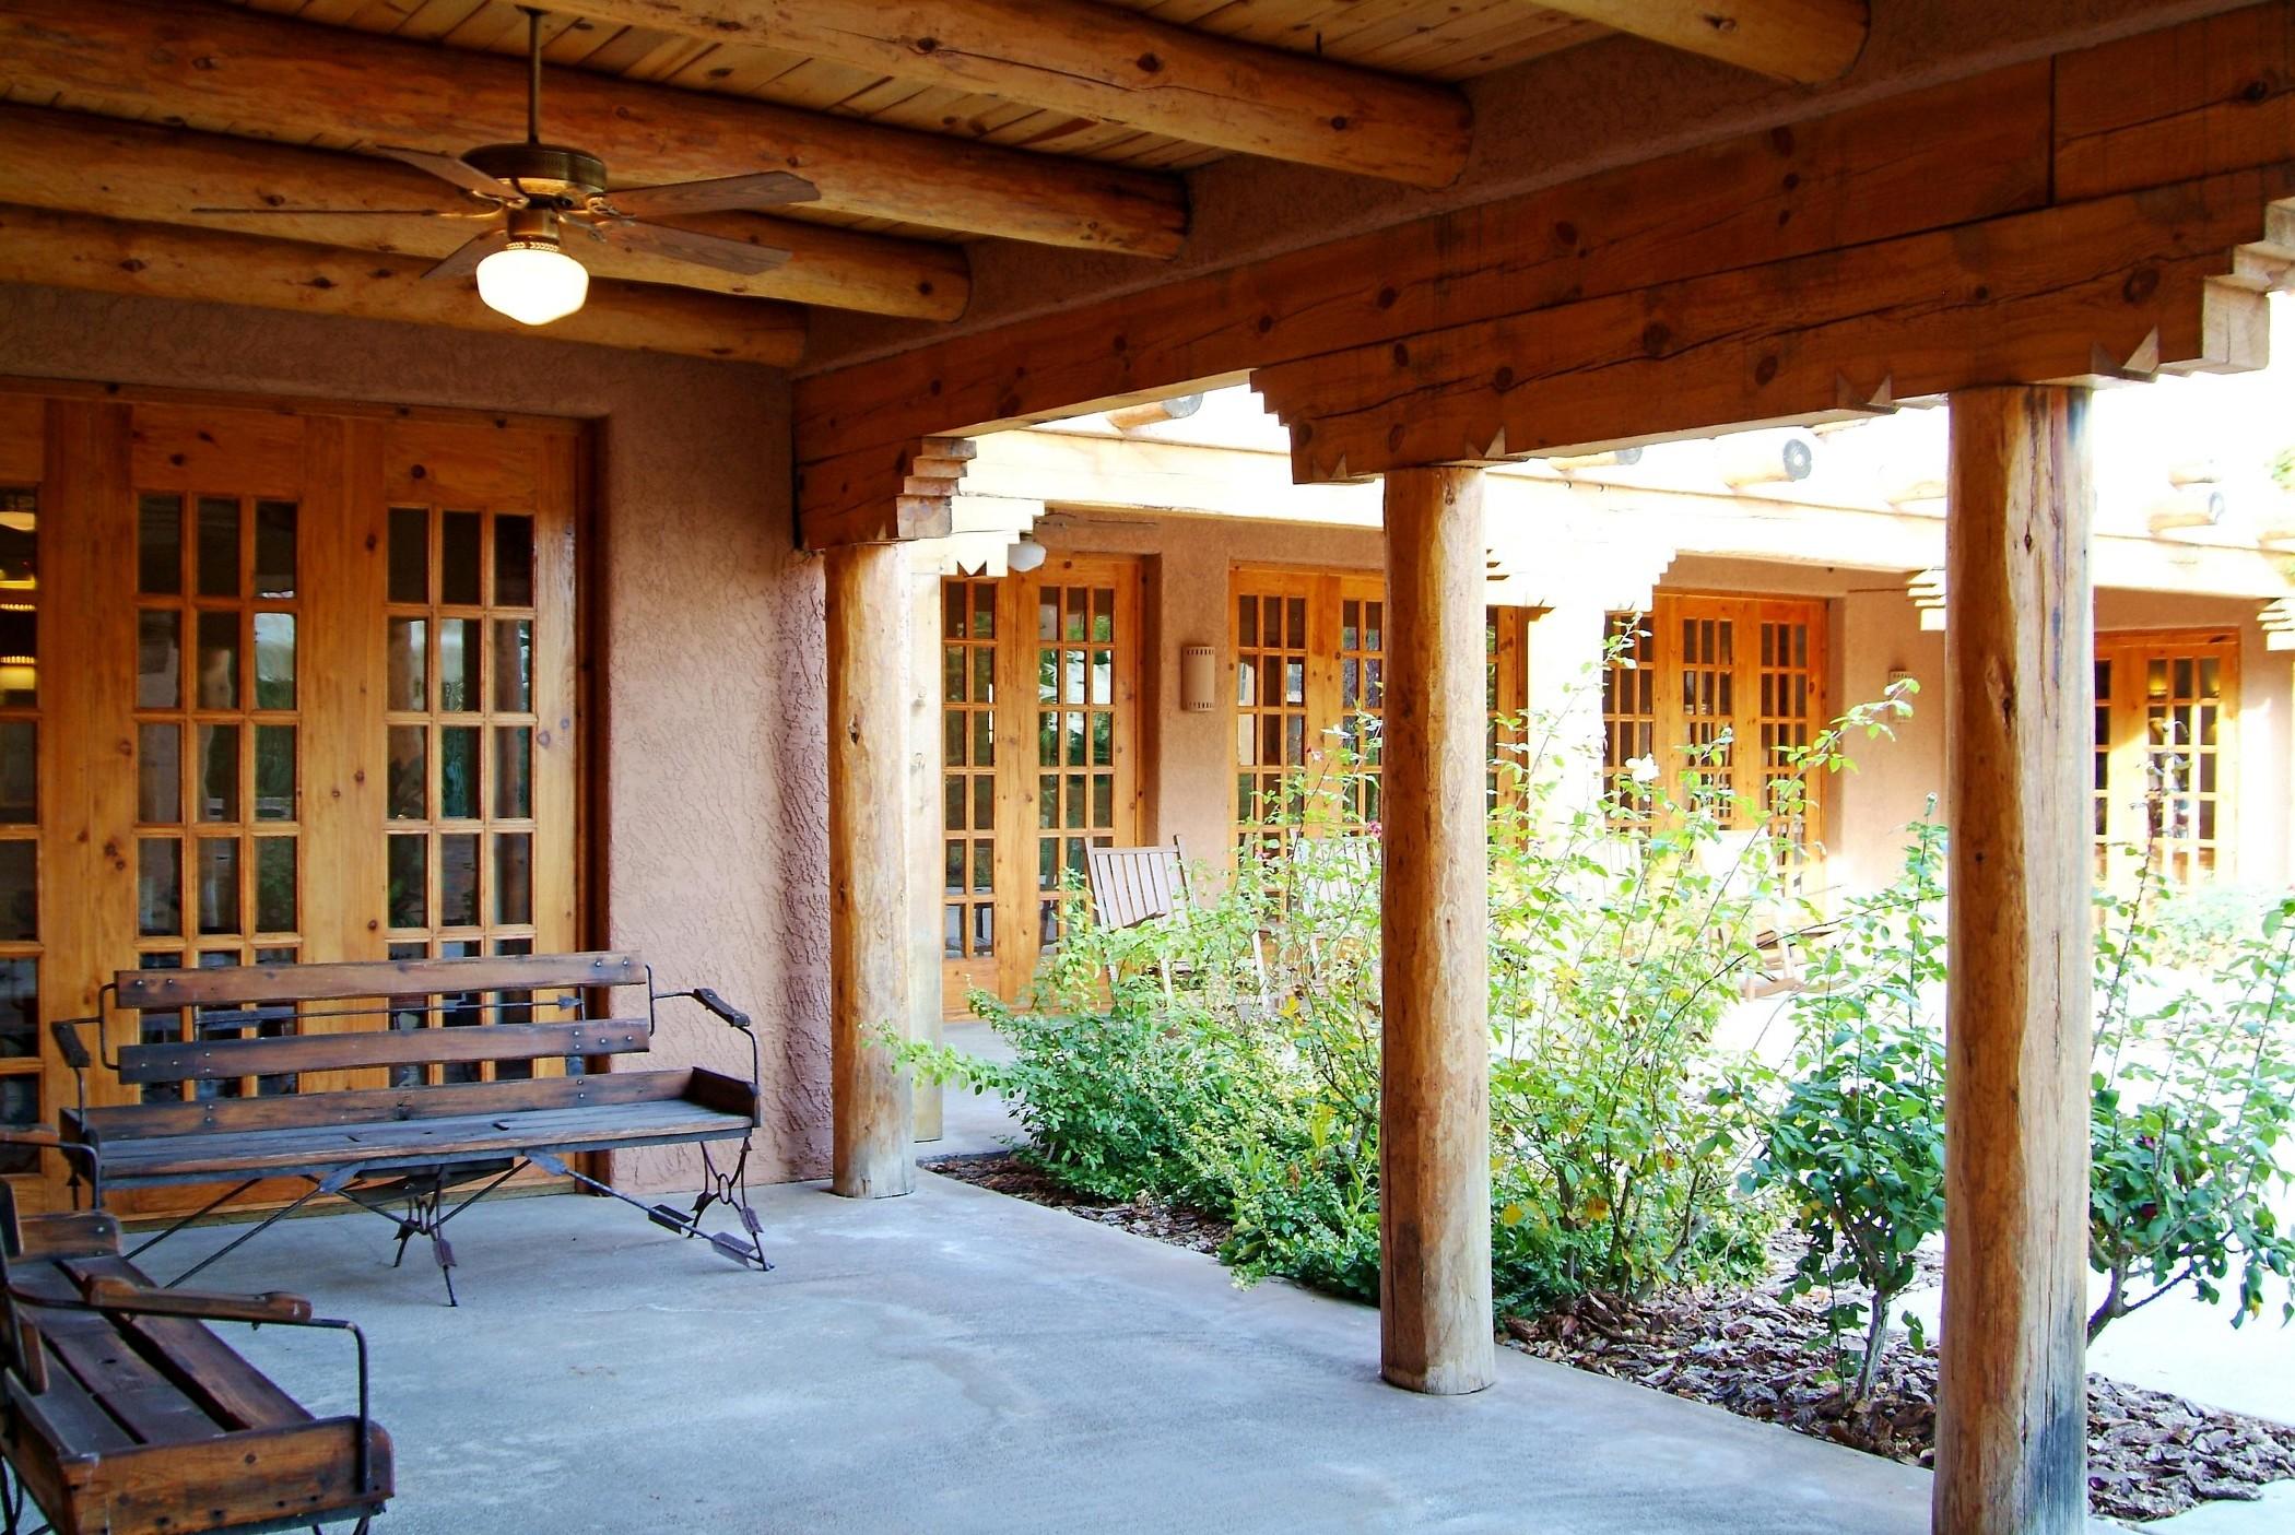
[[1854, 1402], [1873, 1390], [1921, 1241], [1944, 1230], [1944, 1037], [1930, 1010], [1944, 982], [1942, 865], [1944, 828], [1921, 819], [1898, 879], [1847, 904], [1813, 989], [1795, 998], [1795, 1076], [1749, 1175], [1783, 1193], [1808, 1241], [1792, 1287], [1829, 1292], [1836, 1347], [1864, 1335]]

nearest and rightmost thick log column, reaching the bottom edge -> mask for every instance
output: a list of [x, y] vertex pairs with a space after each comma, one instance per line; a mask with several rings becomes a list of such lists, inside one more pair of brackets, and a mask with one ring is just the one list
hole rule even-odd
[[1953, 395], [1937, 1535], [2086, 1526], [2088, 395]]

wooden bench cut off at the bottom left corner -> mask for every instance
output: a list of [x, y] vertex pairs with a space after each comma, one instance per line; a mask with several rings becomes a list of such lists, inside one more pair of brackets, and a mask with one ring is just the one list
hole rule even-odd
[[[5, 1131], [48, 1145], [48, 1131]], [[367, 1411], [367, 1340], [289, 1294], [154, 1287], [101, 1211], [16, 1216], [0, 1184], [0, 1487], [57, 1535], [195, 1535], [367, 1521], [392, 1496], [390, 1436]], [[358, 1413], [317, 1418], [207, 1322], [349, 1333]]]

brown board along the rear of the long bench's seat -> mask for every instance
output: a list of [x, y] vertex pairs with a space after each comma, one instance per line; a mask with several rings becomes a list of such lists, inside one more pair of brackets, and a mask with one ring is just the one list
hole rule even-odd
[[[507, 1083], [441, 1083], [436, 1088], [344, 1088], [340, 1092], [282, 1092], [252, 1099], [195, 1104], [115, 1104], [85, 1113], [67, 1108], [67, 1133], [99, 1140], [106, 1152], [151, 1136], [243, 1133], [296, 1124], [372, 1124], [374, 1120], [445, 1120], [452, 1115], [578, 1108], [583, 1104], [640, 1104], [686, 1097], [691, 1069], [606, 1072], [590, 1076], [530, 1076]], [[748, 1083], [739, 1083], [748, 1092]], [[695, 1099], [700, 1101], [700, 1099]], [[711, 1108], [725, 1104], [711, 1101]]]

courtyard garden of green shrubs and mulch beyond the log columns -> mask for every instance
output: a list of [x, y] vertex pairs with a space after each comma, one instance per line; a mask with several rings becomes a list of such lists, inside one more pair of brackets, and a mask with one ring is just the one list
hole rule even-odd
[[[1625, 663], [1613, 656], [1613, 663]], [[1593, 686], [1588, 681], [1588, 686]], [[1827, 890], [1827, 785], [1914, 684], [1806, 743], [1703, 743], [1588, 792], [1590, 743], [1501, 720], [1489, 764], [1492, 1269], [1533, 1354], [1921, 1462], [1935, 1351], [1905, 1296], [1944, 1223], [1948, 828]], [[2162, 755], [2173, 776], [2173, 753]], [[902, 1046], [1024, 1129], [959, 1177], [1216, 1250], [1242, 1280], [1377, 1299], [1379, 821], [1372, 720], [1285, 789], [1232, 879], [1097, 927], [1072, 902], [1010, 1046]], [[2164, 798], [2164, 796], [2162, 796]], [[2295, 899], [2095, 897], [2091, 1342], [2169, 1296], [2295, 1317]], [[2091, 1377], [2095, 1510], [2155, 1519], [2295, 1475], [2295, 1429]]]

